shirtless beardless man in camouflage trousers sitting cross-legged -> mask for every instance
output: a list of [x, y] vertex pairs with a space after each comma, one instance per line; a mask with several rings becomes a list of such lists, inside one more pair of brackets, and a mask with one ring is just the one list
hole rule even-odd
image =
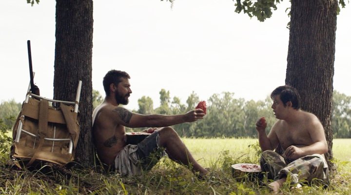
[[[292, 183], [297, 183], [299, 179], [325, 180], [328, 165], [324, 153], [328, 152], [328, 145], [321, 122], [312, 113], [300, 110], [300, 96], [289, 85], [277, 87], [271, 98], [273, 112], [278, 120], [268, 136], [266, 121], [261, 118], [256, 123], [263, 151], [261, 168], [268, 172], [269, 179], [274, 180], [269, 187], [277, 192], [287, 177]], [[284, 151], [281, 155], [273, 152], [278, 144]]]

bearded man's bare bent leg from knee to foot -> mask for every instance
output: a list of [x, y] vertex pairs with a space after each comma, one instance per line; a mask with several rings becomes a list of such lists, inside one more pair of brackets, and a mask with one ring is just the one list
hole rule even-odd
[[172, 160], [186, 166], [191, 165], [192, 171], [194, 173], [199, 172], [201, 176], [208, 174], [208, 171], [196, 162], [173, 128], [164, 127], [160, 129], [159, 137], [160, 146], [166, 148], [166, 152]]

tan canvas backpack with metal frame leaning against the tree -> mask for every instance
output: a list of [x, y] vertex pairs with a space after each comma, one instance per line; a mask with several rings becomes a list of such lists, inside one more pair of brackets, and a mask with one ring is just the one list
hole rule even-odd
[[[74, 102], [73, 102], [74, 103]], [[79, 137], [78, 112], [74, 105], [28, 98], [13, 127], [10, 156], [20, 167], [35, 160], [64, 165], [74, 160]], [[78, 108], [76, 109], [78, 110]]]

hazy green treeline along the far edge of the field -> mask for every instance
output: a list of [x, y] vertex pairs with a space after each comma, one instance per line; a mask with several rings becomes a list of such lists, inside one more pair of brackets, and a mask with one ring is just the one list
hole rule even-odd
[[[177, 115], [193, 110], [200, 100], [195, 92], [189, 95], [186, 104], [177, 97], [170, 97], [170, 92], [161, 89], [160, 106], [154, 109], [150, 97], [138, 99], [139, 114]], [[98, 91], [93, 91], [93, 105], [96, 107], [103, 100]], [[234, 93], [214, 94], [207, 102], [207, 115], [202, 120], [192, 123], [174, 125], [182, 137], [257, 137], [255, 123], [259, 117], [266, 117], [267, 133], [275, 122], [271, 108], [272, 99], [249, 100], [234, 98]], [[15, 100], [3, 101], [0, 104], [0, 123], [12, 127], [18, 116], [21, 103]], [[127, 131], [140, 131], [127, 129]], [[351, 97], [333, 92], [332, 130], [334, 138], [351, 138]]]

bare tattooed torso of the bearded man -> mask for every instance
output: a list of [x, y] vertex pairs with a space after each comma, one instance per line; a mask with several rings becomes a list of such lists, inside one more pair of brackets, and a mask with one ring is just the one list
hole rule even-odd
[[124, 126], [117, 124], [108, 114], [116, 107], [103, 103], [93, 112], [94, 143], [100, 160], [108, 165], [113, 164], [118, 152], [126, 145]]

